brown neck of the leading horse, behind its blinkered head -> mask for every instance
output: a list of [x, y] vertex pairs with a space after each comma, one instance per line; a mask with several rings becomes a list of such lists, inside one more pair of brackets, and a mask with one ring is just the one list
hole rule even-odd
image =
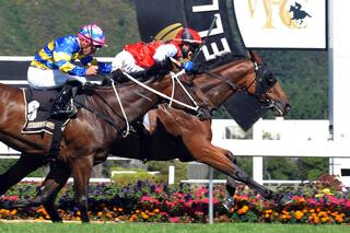
[[[250, 60], [237, 60], [218, 67], [210, 72], [230, 80], [237, 86], [248, 88], [255, 78], [255, 67]], [[215, 107], [219, 107], [237, 90], [224, 81], [208, 73], [202, 73], [195, 79], [195, 89], [199, 89], [206, 98]]]

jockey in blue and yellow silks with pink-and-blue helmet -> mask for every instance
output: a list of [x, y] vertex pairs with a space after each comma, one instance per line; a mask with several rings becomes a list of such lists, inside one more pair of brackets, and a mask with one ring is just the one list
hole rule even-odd
[[[77, 113], [72, 102], [68, 103], [73, 96], [74, 86], [69, 83], [65, 85], [68, 81], [78, 81], [83, 85], [86, 83], [85, 77], [94, 75], [97, 71], [110, 72], [110, 63], [97, 62], [93, 58], [103, 46], [106, 46], [104, 32], [96, 24], [89, 24], [81, 27], [78, 35], [59, 37], [48, 43], [34, 57], [27, 71], [30, 86], [38, 90], [63, 86], [51, 109], [54, 117], [73, 116]], [[83, 67], [75, 66], [75, 59]]]

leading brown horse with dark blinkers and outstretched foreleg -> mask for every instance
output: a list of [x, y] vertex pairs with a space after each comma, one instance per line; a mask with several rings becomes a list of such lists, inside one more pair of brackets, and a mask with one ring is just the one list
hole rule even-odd
[[[194, 90], [199, 90], [197, 93], [203, 94], [206, 101], [213, 103], [215, 108], [219, 108], [236, 91], [248, 92], [265, 102], [276, 116], [285, 115], [290, 109], [287, 95], [272, 73], [264, 66], [262, 59], [257, 54], [250, 53], [249, 55], [250, 59], [243, 58], [234, 61], [234, 65], [230, 65], [232, 69], [235, 69], [232, 72], [234, 75], [229, 73], [225, 68], [219, 67], [214, 74], [196, 77]], [[219, 65], [222, 62], [225, 62], [225, 59], [218, 61]], [[215, 67], [218, 63], [213, 62], [210, 67]], [[254, 72], [254, 69], [257, 69], [254, 63], [258, 66], [260, 72]], [[236, 83], [241, 84], [236, 85]], [[229, 196], [224, 202], [224, 207], [229, 210], [234, 203], [235, 179], [256, 189], [267, 199], [276, 199], [278, 203], [282, 205], [290, 201], [289, 197], [273, 194], [253, 180], [235, 164], [232, 152], [211, 143], [210, 119], [199, 120], [198, 117], [175, 108], [166, 108], [164, 105], [150, 110], [148, 116], [149, 130], [141, 129], [138, 135], [118, 141], [114, 147], [114, 154], [139, 160], [179, 159], [183, 162], [206, 163], [229, 175], [226, 180]], [[232, 171], [235, 171], [234, 176], [230, 175]]]

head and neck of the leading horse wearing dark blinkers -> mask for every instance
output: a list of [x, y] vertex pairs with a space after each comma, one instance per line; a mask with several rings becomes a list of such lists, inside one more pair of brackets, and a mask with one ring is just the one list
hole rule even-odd
[[194, 78], [194, 90], [200, 90], [210, 109], [219, 108], [238, 91], [256, 97], [276, 115], [285, 115], [290, 109], [285, 93], [257, 54], [250, 53], [249, 58], [226, 54], [205, 62], [200, 66], [200, 73]]

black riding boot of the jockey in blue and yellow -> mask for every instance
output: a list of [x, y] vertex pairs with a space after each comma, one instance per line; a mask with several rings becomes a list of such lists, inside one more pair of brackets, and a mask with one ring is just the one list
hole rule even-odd
[[77, 86], [71, 84], [66, 84], [62, 88], [51, 109], [51, 116], [54, 118], [70, 118], [75, 115], [78, 109], [72, 103], [74, 88]]

